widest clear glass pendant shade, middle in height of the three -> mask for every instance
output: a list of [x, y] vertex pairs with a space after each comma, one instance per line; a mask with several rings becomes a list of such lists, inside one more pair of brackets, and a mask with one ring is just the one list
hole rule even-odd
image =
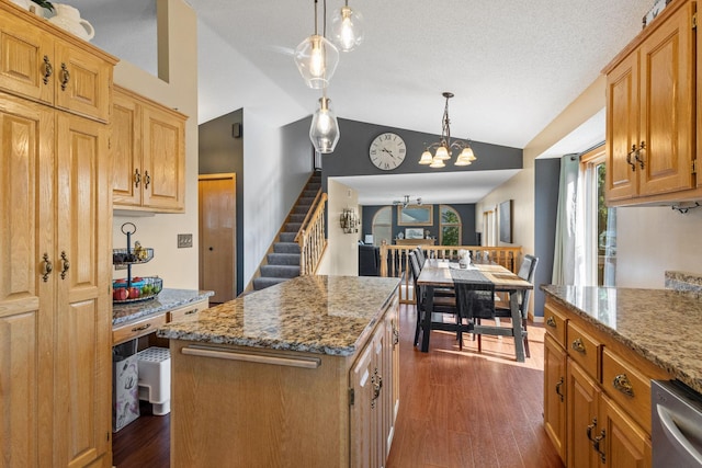
[[314, 34], [299, 43], [295, 49], [295, 65], [305, 84], [320, 90], [329, 84], [337, 70], [339, 49], [326, 37]]

